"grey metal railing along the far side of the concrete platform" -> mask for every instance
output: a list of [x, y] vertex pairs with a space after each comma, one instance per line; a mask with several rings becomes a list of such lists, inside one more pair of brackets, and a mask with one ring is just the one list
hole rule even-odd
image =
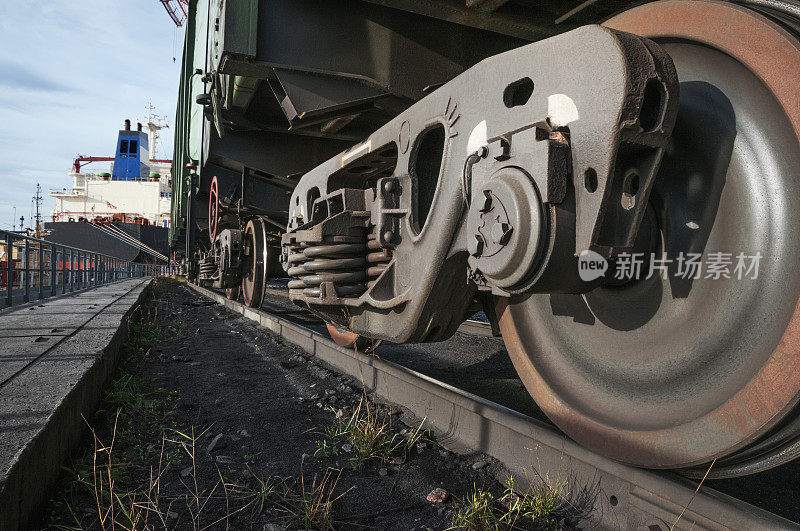
[[168, 265], [126, 262], [0, 229], [0, 308], [126, 278], [170, 272]]

